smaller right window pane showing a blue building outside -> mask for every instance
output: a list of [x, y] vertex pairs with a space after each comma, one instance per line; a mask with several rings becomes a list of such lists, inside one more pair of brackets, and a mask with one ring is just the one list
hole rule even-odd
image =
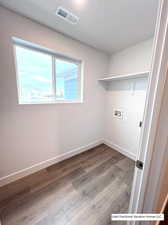
[[56, 59], [56, 97], [63, 100], [78, 98], [78, 65]]

